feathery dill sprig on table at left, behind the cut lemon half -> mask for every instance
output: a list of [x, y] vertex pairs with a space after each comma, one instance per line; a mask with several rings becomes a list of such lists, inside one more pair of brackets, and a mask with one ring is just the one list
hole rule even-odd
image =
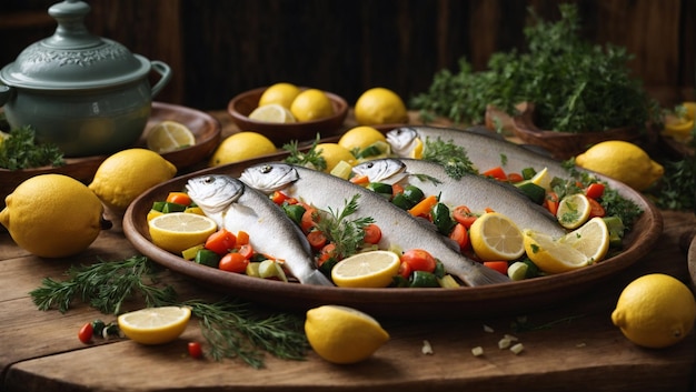
[[39, 310], [58, 308], [61, 313], [70, 309], [73, 299], [98, 309], [102, 313], [119, 314], [125, 301], [140, 294], [148, 306], [171, 303], [176, 298], [172, 287], [157, 287], [160, 269], [146, 257], [132, 257], [120, 262], [99, 261], [91, 265], [71, 267], [68, 280], [51, 278], [30, 292]]

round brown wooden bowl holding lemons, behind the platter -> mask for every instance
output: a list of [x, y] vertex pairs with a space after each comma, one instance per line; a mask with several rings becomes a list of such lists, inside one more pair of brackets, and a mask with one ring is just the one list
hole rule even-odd
[[229, 101], [227, 111], [239, 130], [259, 132], [278, 147], [292, 140], [314, 140], [317, 133], [321, 138], [326, 138], [344, 131], [344, 121], [348, 114], [348, 103], [345, 99], [330, 92], [326, 92], [326, 94], [334, 104], [334, 115], [326, 119], [295, 123], [274, 123], [249, 119], [249, 114], [259, 105], [259, 99], [266, 89], [264, 87], [249, 90]]

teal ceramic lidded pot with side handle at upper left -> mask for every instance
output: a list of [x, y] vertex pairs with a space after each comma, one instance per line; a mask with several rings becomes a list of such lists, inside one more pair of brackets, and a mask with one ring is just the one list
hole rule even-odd
[[[24, 49], [0, 70], [0, 104], [12, 128], [31, 125], [39, 142], [66, 157], [109, 154], [133, 145], [147, 124], [152, 98], [171, 69], [126, 47], [90, 34], [90, 7], [76, 0], [53, 4], [52, 37]], [[159, 74], [151, 87], [149, 74]]]

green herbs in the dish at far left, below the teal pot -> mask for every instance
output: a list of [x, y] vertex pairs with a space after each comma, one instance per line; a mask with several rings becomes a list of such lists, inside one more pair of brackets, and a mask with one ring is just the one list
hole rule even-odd
[[0, 142], [0, 168], [22, 170], [66, 164], [60, 149], [51, 143], [37, 143], [36, 131], [26, 125], [10, 131]]

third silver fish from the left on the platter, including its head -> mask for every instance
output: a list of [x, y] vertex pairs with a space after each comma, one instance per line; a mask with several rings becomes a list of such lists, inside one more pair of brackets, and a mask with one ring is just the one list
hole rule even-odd
[[[533, 229], [554, 238], [566, 234], [556, 217], [541, 205], [531, 202], [511, 184], [477, 174], [465, 174], [456, 180], [447, 175], [438, 163], [407, 158], [367, 161], [354, 167], [354, 171], [367, 175], [370, 181], [372, 181], [370, 174], [376, 173], [377, 178], [386, 182], [389, 182], [387, 177], [389, 171], [394, 171], [396, 178], [402, 178], [402, 172], [406, 171], [412, 174], [408, 175], [407, 183], [418, 187], [425, 194], [439, 195], [439, 201], [450, 208], [464, 204], [475, 213], [491, 208], [509, 217], [523, 230]], [[428, 178], [424, 179], [417, 174], [426, 174]]]

